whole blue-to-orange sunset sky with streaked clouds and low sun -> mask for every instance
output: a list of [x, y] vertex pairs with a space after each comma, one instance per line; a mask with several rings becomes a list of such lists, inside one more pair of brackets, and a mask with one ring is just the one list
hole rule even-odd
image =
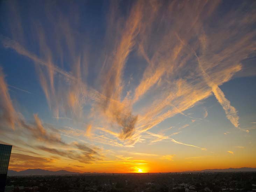
[[256, 167], [255, 1], [1, 1], [9, 169]]

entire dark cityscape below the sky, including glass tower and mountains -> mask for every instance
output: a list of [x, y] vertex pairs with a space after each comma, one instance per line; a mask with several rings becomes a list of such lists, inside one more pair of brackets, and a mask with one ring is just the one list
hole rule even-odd
[[1, 192], [256, 191], [256, 168], [123, 174], [43, 169], [17, 172], [8, 170], [11, 150], [11, 145], [0, 144]]

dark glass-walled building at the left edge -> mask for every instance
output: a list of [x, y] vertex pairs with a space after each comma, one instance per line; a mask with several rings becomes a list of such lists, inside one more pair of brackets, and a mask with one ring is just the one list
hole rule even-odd
[[12, 145], [0, 144], [0, 192], [5, 191], [11, 151]]

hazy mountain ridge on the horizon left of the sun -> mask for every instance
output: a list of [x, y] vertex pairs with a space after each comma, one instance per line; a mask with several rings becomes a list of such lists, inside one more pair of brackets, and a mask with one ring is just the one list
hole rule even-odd
[[30, 175], [80, 175], [80, 174], [102, 174], [102, 173], [79, 173], [79, 172], [70, 172], [66, 170], [59, 170], [59, 171], [49, 171], [44, 169], [27, 169], [23, 171], [14, 171], [8, 170], [8, 176], [30, 176]]

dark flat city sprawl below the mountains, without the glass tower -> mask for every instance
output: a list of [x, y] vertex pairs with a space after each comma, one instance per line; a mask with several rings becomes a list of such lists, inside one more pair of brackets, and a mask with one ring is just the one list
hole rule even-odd
[[[8, 177], [11, 191], [193, 192], [255, 191], [256, 172], [128, 173]], [[14, 187], [15, 186], [15, 187]], [[33, 187], [31, 187], [33, 186]], [[7, 190], [6, 190], [7, 191]]]

